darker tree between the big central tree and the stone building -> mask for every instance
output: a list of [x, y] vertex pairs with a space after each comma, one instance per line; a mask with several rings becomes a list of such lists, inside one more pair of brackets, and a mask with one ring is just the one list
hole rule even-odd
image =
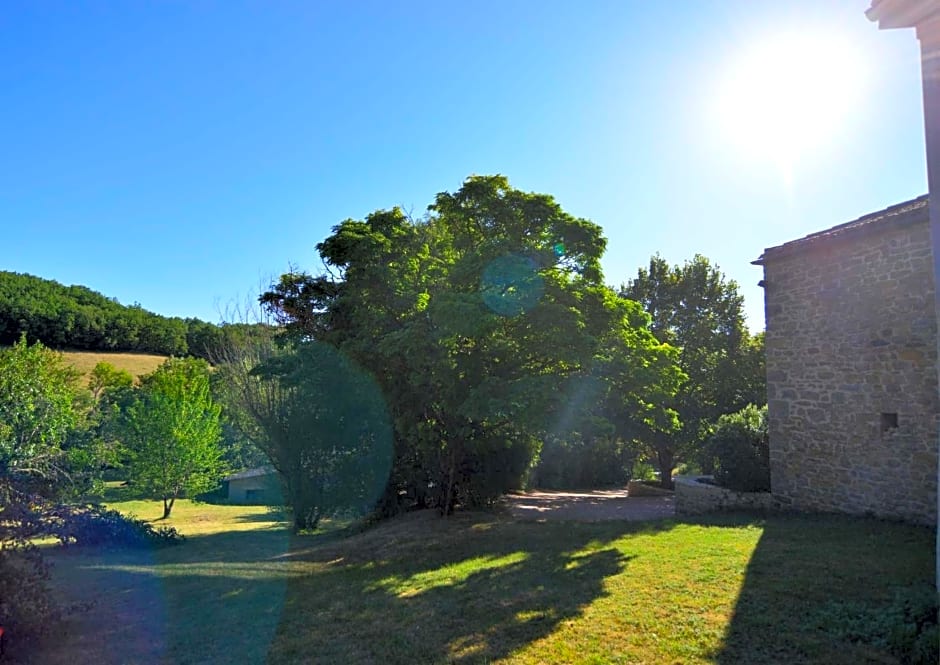
[[659, 340], [679, 349], [686, 375], [667, 402], [681, 429], [659, 429], [644, 439], [669, 485], [675, 466], [699, 455], [719, 416], [766, 402], [763, 336], [748, 333], [737, 284], [701, 255], [676, 266], [653, 256], [621, 294], [643, 306]]

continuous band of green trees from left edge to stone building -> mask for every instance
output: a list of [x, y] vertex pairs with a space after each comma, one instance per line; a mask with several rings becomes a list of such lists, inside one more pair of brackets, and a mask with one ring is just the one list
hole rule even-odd
[[[614, 288], [605, 248], [597, 224], [502, 176], [468, 178], [420, 218], [347, 219], [317, 245], [321, 273], [261, 296], [276, 325], [216, 328], [237, 334], [205, 347], [211, 371], [174, 358], [135, 386], [99, 366], [76, 390], [51, 360], [5, 370], [0, 476], [80, 487], [123, 464], [168, 515], [223, 469], [266, 461], [307, 529], [337, 511], [448, 514], [525, 485], [622, 483], [638, 461], [665, 486], [679, 465], [711, 470], [721, 416], [766, 401], [763, 338], [706, 258], [654, 256]], [[36, 346], [0, 353], [27, 367]]]

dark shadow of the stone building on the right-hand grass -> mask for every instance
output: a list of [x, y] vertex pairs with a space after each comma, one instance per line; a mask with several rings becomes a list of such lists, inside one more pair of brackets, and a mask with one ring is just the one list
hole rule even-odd
[[898, 589], [932, 587], [930, 529], [837, 515], [779, 515], [755, 524], [763, 533], [716, 662], [898, 662], [837, 624], [854, 623], [865, 635], [871, 630], [859, 626], [859, 608], [878, 616]]

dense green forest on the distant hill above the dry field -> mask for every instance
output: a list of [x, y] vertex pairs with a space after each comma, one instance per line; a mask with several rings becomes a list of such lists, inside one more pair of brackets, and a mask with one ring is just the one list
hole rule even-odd
[[30, 343], [54, 349], [207, 358], [229, 328], [122, 305], [84, 286], [0, 271], [0, 345], [25, 334]]

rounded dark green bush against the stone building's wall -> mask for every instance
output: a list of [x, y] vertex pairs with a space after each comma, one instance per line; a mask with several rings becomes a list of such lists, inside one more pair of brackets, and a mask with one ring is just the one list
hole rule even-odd
[[767, 407], [749, 404], [718, 419], [709, 439], [716, 460], [715, 482], [739, 492], [770, 490]]

